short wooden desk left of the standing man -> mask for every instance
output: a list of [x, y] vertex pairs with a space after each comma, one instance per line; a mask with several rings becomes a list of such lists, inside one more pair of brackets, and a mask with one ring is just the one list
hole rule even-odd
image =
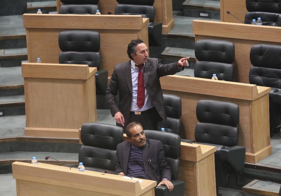
[[25, 136], [79, 138], [78, 129], [97, 122], [96, 67], [23, 63]]

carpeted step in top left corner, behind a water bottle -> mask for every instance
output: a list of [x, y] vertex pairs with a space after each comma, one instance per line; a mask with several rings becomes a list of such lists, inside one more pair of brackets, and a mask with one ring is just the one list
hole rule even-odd
[[41, 9], [43, 14], [56, 11], [56, 1], [28, 2], [26, 4], [28, 13], [37, 13]]

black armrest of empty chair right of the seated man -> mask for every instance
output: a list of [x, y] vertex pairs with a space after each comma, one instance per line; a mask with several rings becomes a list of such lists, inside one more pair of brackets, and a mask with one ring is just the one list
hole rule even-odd
[[220, 149], [220, 159], [226, 161], [236, 172], [244, 170], [246, 148], [233, 146]]

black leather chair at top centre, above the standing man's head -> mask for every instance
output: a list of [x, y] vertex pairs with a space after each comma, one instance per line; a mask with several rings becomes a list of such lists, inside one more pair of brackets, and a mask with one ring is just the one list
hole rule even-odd
[[154, 0], [117, 0], [119, 4], [115, 7], [115, 13], [142, 15], [149, 18], [148, 39], [149, 45], [160, 45], [162, 39], [162, 23], [154, 22], [155, 8]]

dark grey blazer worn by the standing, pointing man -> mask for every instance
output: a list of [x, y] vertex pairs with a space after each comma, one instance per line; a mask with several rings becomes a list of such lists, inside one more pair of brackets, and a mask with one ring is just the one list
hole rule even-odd
[[[145, 63], [143, 70], [144, 83], [146, 91], [152, 99], [152, 103], [155, 106], [161, 121], [162, 119], [167, 119], [163, 93], [161, 90], [159, 78], [166, 75], [173, 75], [182, 69], [178, 69], [177, 62], [167, 65], [163, 65], [158, 58], [148, 58]], [[119, 90], [119, 105], [115, 99], [117, 91]], [[109, 81], [107, 89], [105, 91], [105, 96], [112, 116], [118, 111], [120, 111], [125, 119], [125, 126], [127, 125], [131, 103], [132, 103], [133, 85], [132, 85], [132, 74], [131, 74], [131, 60], [120, 63], [114, 67], [112, 77]], [[116, 124], [122, 126], [121, 124]]]

